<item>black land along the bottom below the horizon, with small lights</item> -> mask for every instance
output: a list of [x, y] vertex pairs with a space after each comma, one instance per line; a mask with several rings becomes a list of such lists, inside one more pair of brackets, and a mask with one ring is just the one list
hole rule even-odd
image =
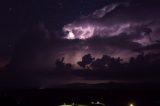
[[[137, 88], [140, 86], [127, 85], [127, 87], [121, 85], [118, 88], [99, 89], [82, 87], [82, 85], [81, 87], [72, 86], [43, 90], [1, 90], [0, 106], [57, 106], [64, 103], [75, 104], [74, 106], [160, 106], [158, 85], [157, 87], [150, 85], [150, 88], [146, 88], [146, 86]], [[93, 103], [99, 103], [99, 105]], [[103, 104], [101, 105], [100, 103]]]

